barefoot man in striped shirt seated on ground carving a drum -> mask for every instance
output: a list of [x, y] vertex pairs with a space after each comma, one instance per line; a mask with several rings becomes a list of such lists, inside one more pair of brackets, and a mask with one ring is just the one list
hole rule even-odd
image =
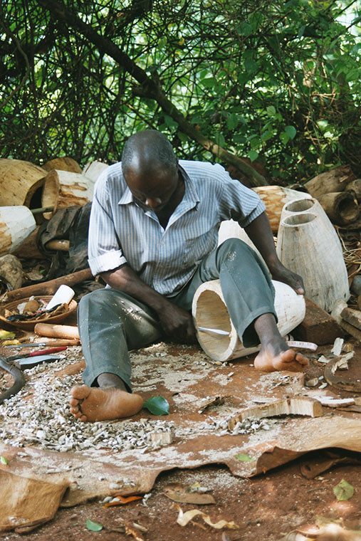
[[162, 337], [195, 342], [192, 299], [208, 280], [220, 280], [244, 346], [261, 343], [256, 369], [305, 368], [308, 360], [278, 332], [273, 285], [255, 251], [237, 238], [216, 247], [220, 222], [237, 220], [272, 278], [303, 294], [302, 278], [276, 256], [264, 209], [219, 164], [178, 162], [156, 130], [127, 140], [122, 162], [98, 179], [90, 214], [89, 264], [107, 287], [80, 300], [86, 385], [71, 392], [77, 419], [117, 419], [142, 408], [142, 397], [132, 394], [128, 350]]

